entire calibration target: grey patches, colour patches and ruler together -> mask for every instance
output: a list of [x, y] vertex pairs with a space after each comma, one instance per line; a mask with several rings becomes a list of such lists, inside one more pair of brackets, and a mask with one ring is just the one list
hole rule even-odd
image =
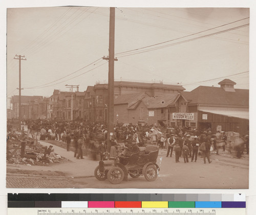
[[245, 215], [244, 194], [8, 194], [9, 215]]

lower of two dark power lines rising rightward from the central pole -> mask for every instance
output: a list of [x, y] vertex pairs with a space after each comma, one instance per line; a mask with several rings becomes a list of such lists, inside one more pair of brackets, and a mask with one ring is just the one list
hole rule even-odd
[[[188, 40], [183, 40], [183, 41], [176, 42], [176, 43], [171, 43], [171, 44], [162, 45], [162, 46], [159, 46], [159, 47], [154, 47], [154, 48], [148, 49], [148, 50], [146, 50], [146, 51], [134, 52], [134, 53], [131, 53], [131, 54], [127, 54], [127, 55], [123, 55], [123, 56], [118, 56], [118, 57], [121, 58], [121, 57], [126, 57], [126, 56], [141, 54], [141, 53], [144, 53], [144, 52], [150, 52], [150, 51], [154, 51], [154, 50], [158, 50], [158, 49], [163, 49], [164, 47], [168, 47], [168, 46], [172, 46], [172, 45], [177, 45], [177, 44], [181, 44], [181, 43], [184, 43], [184, 42], [189, 42], [189, 41], [201, 39], [201, 38], [204, 38], [204, 37], [209, 37], [209, 36], [216, 35], [216, 34], [225, 33], [225, 32], [228, 32], [228, 31], [232, 31], [232, 30], [239, 29], [239, 28], [244, 28], [244, 27], [246, 27], [246, 26], [249, 26], [249, 24], [245, 24], [245, 25], [242, 25], [242, 26], [234, 27], [234, 28], [231, 28], [231, 29], [226, 29], [226, 30], [223, 30], [223, 31], [219, 31], [219, 32], [215, 32], [215, 33], [211, 33], [211, 34], [207, 34], [207, 35], [203, 35], [203, 36], [200, 36], [200, 37], [195, 37], [195, 38], [188, 39]], [[153, 46], [153, 45], [151, 45], [151, 46]], [[143, 49], [144, 49], [144, 48], [143, 48]], [[131, 52], [131, 51], [127, 51], [127, 52]], [[125, 53], [125, 52], [124, 52], [124, 53]], [[120, 53], [119, 53], [119, 54], [120, 54]]]

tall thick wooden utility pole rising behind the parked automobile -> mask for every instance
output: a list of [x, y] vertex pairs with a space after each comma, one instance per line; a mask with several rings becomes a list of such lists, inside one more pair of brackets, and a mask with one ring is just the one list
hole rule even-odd
[[103, 57], [109, 60], [109, 89], [108, 89], [108, 139], [107, 150], [110, 152], [110, 133], [114, 133], [114, 62], [115, 58], [115, 8], [110, 8], [110, 38], [109, 38], [109, 57]]

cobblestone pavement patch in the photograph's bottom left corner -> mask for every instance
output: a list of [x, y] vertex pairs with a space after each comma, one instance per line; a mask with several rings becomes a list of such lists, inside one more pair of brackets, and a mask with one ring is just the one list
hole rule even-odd
[[27, 176], [8, 174], [7, 188], [79, 188], [71, 179], [64, 177]]

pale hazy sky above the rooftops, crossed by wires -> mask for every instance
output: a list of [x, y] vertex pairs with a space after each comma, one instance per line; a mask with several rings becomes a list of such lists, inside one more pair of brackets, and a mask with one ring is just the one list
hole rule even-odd
[[[7, 9], [7, 96], [107, 83], [107, 7]], [[115, 79], [249, 89], [248, 8], [115, 8]], [[135, 50], [135, 51], [132, 51]], [[121, 53], [121, 54], [119, 54]]]

